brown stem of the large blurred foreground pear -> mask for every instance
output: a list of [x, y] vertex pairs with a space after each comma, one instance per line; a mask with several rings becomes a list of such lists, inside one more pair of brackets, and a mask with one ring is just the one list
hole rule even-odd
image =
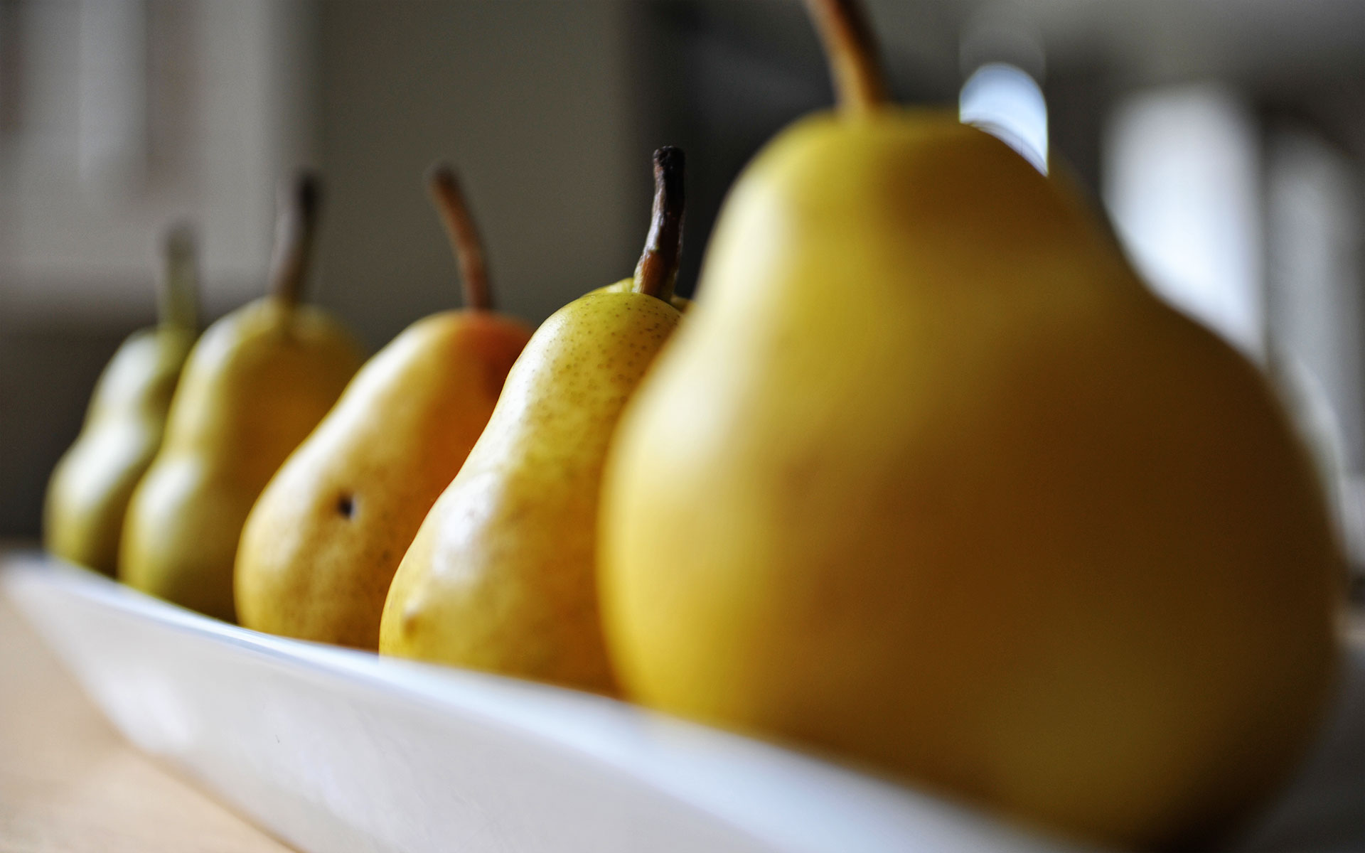
[[887, 101], [876, 40], [859, 0], [805, 0], [830, 57], [834, 93], [845, 115], [865, 115]]

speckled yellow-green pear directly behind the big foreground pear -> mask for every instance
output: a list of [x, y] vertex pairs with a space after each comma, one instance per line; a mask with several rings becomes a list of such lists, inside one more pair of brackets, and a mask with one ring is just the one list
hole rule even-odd
[[581, 296], [536, 329], [399, 565], [382, 654], [614, 691], [597, 603], [598, 490], [621, 407], [678, 323], [682, 153], [659, 149], [654, 176], [633, 289]]

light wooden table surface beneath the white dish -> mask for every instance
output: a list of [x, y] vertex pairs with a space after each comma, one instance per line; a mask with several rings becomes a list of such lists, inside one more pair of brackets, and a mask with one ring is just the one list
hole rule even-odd
[[0, 595], [0, 853], [287, 853], [124, 741]]

